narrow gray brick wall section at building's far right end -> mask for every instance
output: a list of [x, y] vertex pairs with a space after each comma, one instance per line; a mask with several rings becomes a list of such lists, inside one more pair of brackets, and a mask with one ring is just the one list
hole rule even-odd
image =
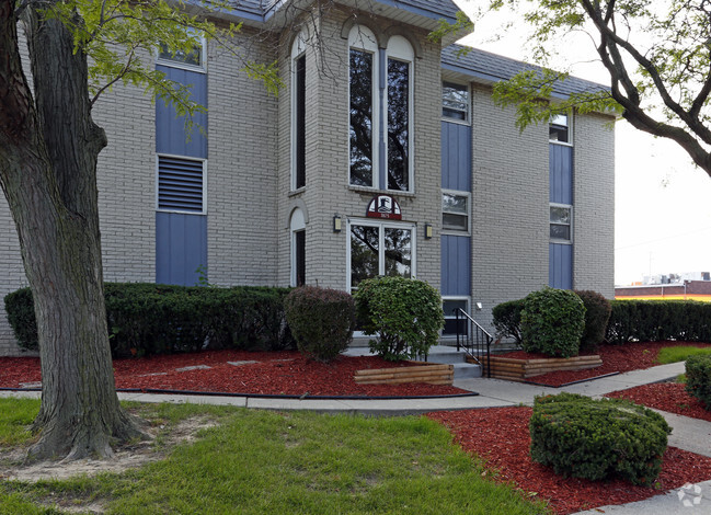
[[573, 287], [615, 298], [615, 131], [610, 117], [573, 126]]

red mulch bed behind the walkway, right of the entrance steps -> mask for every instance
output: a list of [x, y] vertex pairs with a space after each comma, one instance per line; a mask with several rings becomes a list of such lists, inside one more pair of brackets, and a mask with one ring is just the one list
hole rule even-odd
[[[598, 376], [605, 376], [613, 373], [626, 373], [630, 370], [641, 370], [657, 366], [656, 355], [662, 347], [676, 346], [709, 347], [711, 344], [688, 343], [688, 342], [646, 342], [646, 343], [626, 343], [623, 345], [600, 345], [596, 353], [584, 353], [582, 355], [599, 354], [603, 358], [603, 365], [586, 370], [561, 370], [542, 374], [540, 376], [529, 377], [529, 382], [560, 387], [569, 382], [589, 379]], [[543, 354], [526, 353], [515, 351], [505, 354], [496, 354], [502, 357], [513, 357], [518, 359], [540, 359], [547, 358]]]

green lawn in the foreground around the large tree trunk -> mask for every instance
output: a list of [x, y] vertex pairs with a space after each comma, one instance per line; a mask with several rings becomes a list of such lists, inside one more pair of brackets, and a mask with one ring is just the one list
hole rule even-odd
[[[27, 401], [7, 402], [0, 399], [0, 425], [9, 405], [37, 409], [22, 407]], [[121, 474], [0, 481], [0, 514], [61, 513], [46, 507], [58, 500], [79, 507], [99, 502], [108, 514], [548, 513], [511, 485], [482, 478], [480, 462], [425, 417], [172, 404], [138, 410], [153, 424], [170, 426], [191, 416], [219, 424], [168, 458]], [[23, 442], [22, 427], [15, 425], [14, 433], [14, 442]]]

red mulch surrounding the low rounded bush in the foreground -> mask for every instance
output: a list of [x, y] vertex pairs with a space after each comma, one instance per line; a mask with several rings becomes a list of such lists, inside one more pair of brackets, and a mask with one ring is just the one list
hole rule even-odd
[[676, 447], [667, 448], [664, 454], [657, 489], [634, 487], [623, 480], [594, 482], [562, 478], [530, 459], [531, 412], [531, 408], [491, 408], [443, 411], [427, 416], [449, 427], [465, 450], [477, 454], [498, 472], [497, 480], [513, 482], [528, 495], [547, 500], [558, 514], [641, 501], [687, 482], [711, 479], [711, 458]]

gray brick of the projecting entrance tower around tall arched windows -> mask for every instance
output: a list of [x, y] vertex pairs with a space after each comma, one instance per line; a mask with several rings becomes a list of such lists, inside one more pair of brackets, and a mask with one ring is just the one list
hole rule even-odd
[[[360, 19], [376, 32], [392, 22], [362, 13]], [[332, 288], [347, 287], [346, 243], [349, 237], [346, 219], [365, 219], [376, 190], [348, 186], [348, 44], [341, 37], [347, 11], [333, 9], [318, 20], [325, 52], [309, 48], [307, 54], [307, 185], [289, 194], [289, 114], [290, 78], [279, 99], [279, 218], [283, 236], [279, 243], [279, 281], [289, 279], [289, 231], [286, 227], [294, 201], [306, 203], [307, 282]], [[404, 26], [423, 47], [422, 58], [413, 64], [414, 100], [414, 191], [390, 192], [402, 208], [403, 221], [416, 224], [416, 276], [439, 287], [439, 94], [440, 68], [438, 45], [428, 43], [426, 34]], [[290, 48], [280, 55], [283, 69], [288, 68]], [[285, 62], [286, 61], [286, 62]], [[437, 99], [436, 102], [425, 99]], [[343, 218], [343, 231], [334, 233], [334, 214]], [[424, 240], [424, 224], [433, 224], [436, 237]]]

